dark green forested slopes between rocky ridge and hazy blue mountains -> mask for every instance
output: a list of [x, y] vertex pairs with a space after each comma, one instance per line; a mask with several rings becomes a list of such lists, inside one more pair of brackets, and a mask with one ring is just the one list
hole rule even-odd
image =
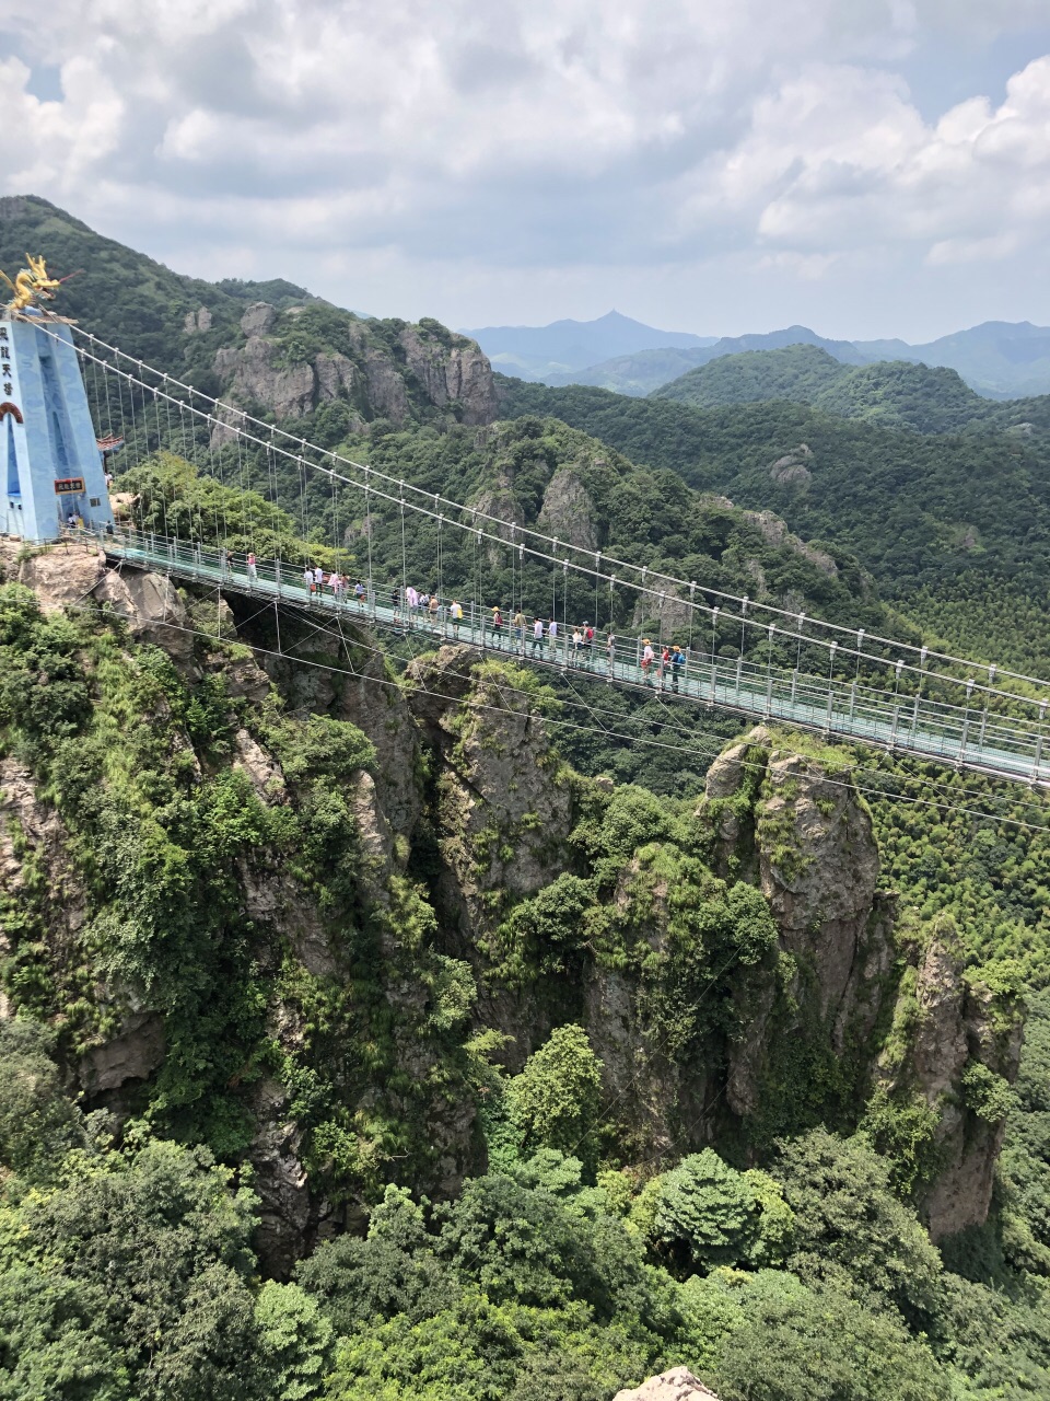
[[556, 415], [636, 462], [776, 511], [855, 553], [883, 597], [967, 654], [1047, 674], [1050, 399], [993, 405], [1005, 427], [925, 434], [784, 402], [696, 409], [522, 381], [500, 395], [505, 415]]

